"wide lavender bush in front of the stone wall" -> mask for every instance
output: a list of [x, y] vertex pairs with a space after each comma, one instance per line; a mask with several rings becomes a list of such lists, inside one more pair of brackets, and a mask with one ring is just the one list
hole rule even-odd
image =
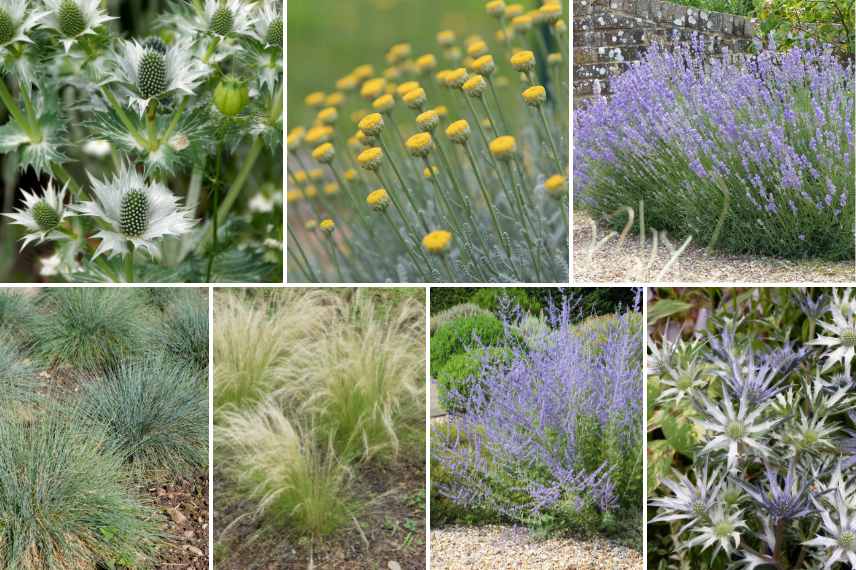
[[579, 109], [577, 204], [609, 219], [644, 202], [651, 227], [730, 252], [852, 259], [853, 68], [758, 47], [654, 45]]

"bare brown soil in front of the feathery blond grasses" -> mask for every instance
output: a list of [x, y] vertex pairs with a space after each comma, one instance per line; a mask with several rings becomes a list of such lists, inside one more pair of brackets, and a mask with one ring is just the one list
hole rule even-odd
[[[360, 530], [352, 523], [316, 545], [315, 568], [424, 570], [425, 466], [420, 459], [383, 467], [358, 467], [351, 491], [362, 505], [354, 517]], [[254, 517], [254, 504], [225, 499], [234, 494], [234, 489], [216, 470], [214, 479], [217, 497], [214, 550], [218, 570], [309, 568], [306, 540], [294, 536], [287, 528], [270, 528], [265, 521]], [[419, 497], [418, 501], [414, 497]]]

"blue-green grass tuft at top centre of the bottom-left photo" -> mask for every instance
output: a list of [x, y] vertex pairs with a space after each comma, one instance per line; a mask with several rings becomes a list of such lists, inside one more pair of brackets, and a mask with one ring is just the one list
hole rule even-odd
[[150, 315], [130, 289], [50, 289], [38, 306], [47, 317], [34, 327], [36, 350], [51, 363], [78, 370], [104, 370], [138, 355], [150, 335]]

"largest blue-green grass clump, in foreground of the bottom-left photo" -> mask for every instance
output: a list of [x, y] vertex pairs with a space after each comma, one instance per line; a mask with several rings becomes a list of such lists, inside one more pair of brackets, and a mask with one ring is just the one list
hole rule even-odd
[[104, 444], [58, 410], [31, 423], [0, 415], [0, 567], [149, 567], [155, 512]]

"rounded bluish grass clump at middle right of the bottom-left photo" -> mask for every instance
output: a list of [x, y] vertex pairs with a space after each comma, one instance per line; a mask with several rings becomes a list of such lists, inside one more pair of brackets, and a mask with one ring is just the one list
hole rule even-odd
[[207, 382], [187, 366], [156, 357], [122, 363], [84, 386], [80, 407], [136, 471], [182, 474], [207, 463]]

